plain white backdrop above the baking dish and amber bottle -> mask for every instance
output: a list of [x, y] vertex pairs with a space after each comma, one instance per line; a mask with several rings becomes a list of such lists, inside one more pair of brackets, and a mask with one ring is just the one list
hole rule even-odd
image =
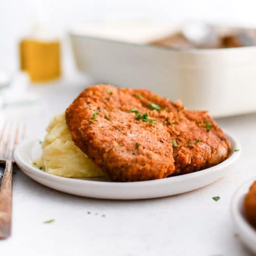
[[[0, 65], [12, 71], [18, 70], [19, 66], [18, 42], [31, 33], [32, 2], [38, 1], [1, 1]], [[215, 24], [256, 27], [256, 2], [253, 0], [44, 0], [38, 3], [44, 6], [51, 30], [61, 38], [65, 38], [70, 27], [76, 23], [125, 18], [170, 22], [196, 19]]]

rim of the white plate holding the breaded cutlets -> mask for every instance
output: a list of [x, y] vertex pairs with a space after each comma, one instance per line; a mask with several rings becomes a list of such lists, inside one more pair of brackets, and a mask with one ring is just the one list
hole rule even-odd
[[[160, 184], [164, 184], [165, 182], [180, 182], [180, 181], [184, 181], [184, 180], [189, 180], [189, 179], [193, 179], [196, 177], [200, 177], [203, 176], [206, 172], [214, 172], [215, 170], [219, 169], [219, 168], [223, 168], [226, 167], [230, 164], [232, 164], [234, 161], [236, 161], [242, 152], [242, 148], [241, 148], [241, 144], [239, 143], [239, 141], [236, 139], [236, 137], [234, 137], [233, 135], [231, 135], [228, 132], [225, 132], [227, 139], [231, 142], [231, 145], [233, 144], [233, 148], [232, 148], [232, 152], [231, 155], [224, 160], [223, 162], [214, 165], [212, 167], [203, 169], [203, 170], [199, 170], [197, 172], [194, 173], [189, 173], [189, 174], [183, 174], [183, 175], [178, 175], [178, 176], [172, 176], [172, 177], [168, 177], [168, 178], [164, 178], [164, 179], [156, 179], [156, 180], [147, 180], [147, 181], [130, 181], [130, 182], [116, 182], [116, 181], [95, 181], [95, 180], [82, 180], [82, 179], [78, 179], [78, 178], [67, 178], [67, 177], [61, 177], [61, 176], [56, 176], [53, 174], [48, 174], [40, 169], [38, 169], [37, 167], [34, 167], [32, 164], [28, 164], [23, 158], [21, 158], [18, 154], [18, 152], [20, 151], [20, 148], [23, 148], [26, 144], [29, 144], [31, 142], [34, 141], [39, 141], [40, 137], [37, 136], [36, 138], [28, 138], [25, 139], [24, 141], [22, 141], [21, 143], [19, 143], [14, 151], [14, 159], [15, 161], [20, 164], [23, 165], [24, 168], [30, 170], [30, 172], [35, 172], [35, 174], [38, 174], [41, 177], [45, 177], [45, 178], [51, 178], [55, 181], [58, 182], [63, 182], [63, 181], [68, 181], [68, 182], [76, 182], [78, 184], [87, 184], [90, 183], [90, 185], [97, 185], [100, 183], [102, 185], [105, 186], [113, 186], [113, 184], [115, 184], [115, 186], [130, 186], [131, 184], [133, 186], [141, 186], [141, 185], [157, 185], [158, 183]], [[238, 152], [234, 152], [234, 149], [239, 148]]]

